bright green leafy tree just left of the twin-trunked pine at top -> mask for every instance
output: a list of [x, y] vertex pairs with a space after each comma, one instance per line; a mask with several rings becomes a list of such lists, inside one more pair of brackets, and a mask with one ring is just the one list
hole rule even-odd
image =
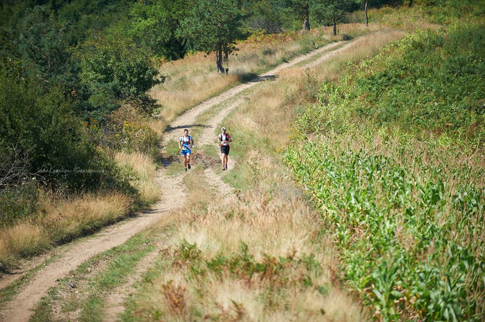
[[187, 52], [187, 38], [177, 32], [180, 22], [189, 14], [189, 0], [148, 0], [133, 5], [134, 22], [129, 33], [167, 60], [180, 59]]

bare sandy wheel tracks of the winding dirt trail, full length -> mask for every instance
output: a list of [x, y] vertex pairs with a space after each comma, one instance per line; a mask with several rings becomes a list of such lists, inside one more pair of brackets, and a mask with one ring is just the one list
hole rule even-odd
[[[205, 111], [211, 109], [213, 106], [234, 97], [236, 94], [254, 86], [258, 82], [272, 79], [274, 74], [282, 69], [293, 67], [298, 63], [319, 55], [339, 44], [341, 44], [341, 42], [334, 42], [327, 46], [316, 49], [306, 55], [299, 56], [291, 62], [281, 64], [250, 82], [240, 84], [200, 103], [199, 105], [195, 106], [195, 108], [179, 116], [174, 122], [172, 122], [172, 124], [170, 124], [162, 140], [162, 149], [170, 140], [178, 138], [180, 135], [180, 129], [185, 127], [190, 128], [191, 126], [195, 125], [197, 118]], [[348, 47], [349, 45], [350, 43], [342, 48]], [[341, 51], [343, 50], [342, 48], [335, 51]], [[332, 56], [332, 52], [318, 58], [315, 61], [318, 63], [313, 62], [309, 65], [314, 66], [321, 63], [324, 59]], [[236, 99], [236, 101], [225, 108], [222, 113], [218, 113], [208, 122], [208, 125], [206, 125], [207, 127], [204, 129], [203, 134], [199, 138], [200, 142], [198, 142], [198, 144], [202, 145], [214, 142], [212, 138], [215, 136], [215, 127], [219, 126], [222, 120], [241, 103], [242, 99], [243, 98]], [[229, 160], [229, 170], [234, 167], [234, 162], [231, 161], [232, 160]], [[206, 169], [205, 174], [212, 186], [217, 187], [218, 189], [222, 187], [224, 190], [232, 190], [229, 185], [222, 182], [221, 178], [214, 172], [213, 169]], [[35, 308], [37, 302], [46, 294], [50, 287], [55, 285], [58, 278], [65, 276], [89, 257], [124, 243], [128, 238], [160, 220], [163, 218], [163, 216], [169, 216], [170, 211], [179, 208], [181, 206], [181, 200], [184, 196], [184, 190], [181, 189], [182, 176], [168, 177], [163, 173], [163, 171], [160, 171], [158, 181], [161, 185], [162, 200], [159, 201], [152, 210], [143, 212], [134, 219], [108, 227], [88, 240], [73, 243], [72, 246], [67, 246], [66, 250], [64, 250], [58, 259], [43, 267], [39, 272], [35, 273], [30, 279], [29, 283], [24, 286], [23, 289], [21, 289], [19, 294], [17, 294], [12, 301], [10, 301], [0, 310], [0, 321], [27, 321], [30, 318], [32, 309]], [[147, 258], [150, 258], [150, 256]], [[34, 260], [33, 262], [38, 263], [38, 259]], [[146, 264], [148, 265], [149, 261]], [[27, 265], [30, 267], [34, 266], [31, 263]], [[142, 261], [140, 265], [144, 265], [144, 261]], [[22, 271], [26, 271], [25, 267]], [[6, 279], [1, 280], [4, 282], [0, 283], [2, 283], [2, 287], [4, 287], [16, 278], [17, 277], [7, 277]], [[130, 284], [125, 284], [125, 286], [129, 288]], [[124, 288], [119, 289], [119, 292], [124, 291]], [[116, 299], [114, 302], [110, 302], [112, 311], [110, 311], [111, 313], [109, 314], [113, 313], [116, 315], [116, 312], [119, 309], [119, 303], [116, 301], [118, 301], [118, 299]]]

